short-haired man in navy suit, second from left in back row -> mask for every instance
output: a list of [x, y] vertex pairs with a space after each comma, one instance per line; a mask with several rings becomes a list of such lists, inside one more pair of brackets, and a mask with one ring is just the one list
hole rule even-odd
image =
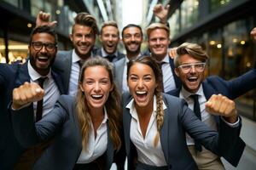
[[99, 38], [102, 42], [102, 48], [96, 49], [96, 55], [100, 55], [110, 62], [115, 62], [125, 57], [125, 54], [117, 49], [120, 38], [119, 27], [115, 21], [103, 23]]

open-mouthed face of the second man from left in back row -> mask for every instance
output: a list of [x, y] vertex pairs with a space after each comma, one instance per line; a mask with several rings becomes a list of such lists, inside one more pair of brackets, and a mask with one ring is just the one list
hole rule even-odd
[[102, 46], [107, 54], [113, 54], [119, 43], [119, 30], [115, 26], [105, 26], [102, 28], [100, 36]]

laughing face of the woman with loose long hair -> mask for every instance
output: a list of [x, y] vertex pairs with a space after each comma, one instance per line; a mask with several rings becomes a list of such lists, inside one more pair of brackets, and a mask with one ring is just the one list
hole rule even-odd
[[84, 70], [84, 80], [80, 84], [90, 111], [103, 110], [113, 84], [104, 66], [90, 66]]

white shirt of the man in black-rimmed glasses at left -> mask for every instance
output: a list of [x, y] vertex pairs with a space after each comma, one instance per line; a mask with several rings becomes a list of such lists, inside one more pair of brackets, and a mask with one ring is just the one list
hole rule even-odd
[[[38, 78], [42, 76], [33, 69], [30, 61], [27, 63], [27, 70], [30, 76], [30, 82], [38, 83]], [[51, 71], [49, 71], [49, 74], [45, 77], [47, 77], [47, 79], [44, 81], [43, 116], [47, 115], [54, 108], [55, 102], [61, 95], [53, 77], [51, 76]], [[38, 102], [33, 102], [34, 117], [36, 117], [37, 103]]]

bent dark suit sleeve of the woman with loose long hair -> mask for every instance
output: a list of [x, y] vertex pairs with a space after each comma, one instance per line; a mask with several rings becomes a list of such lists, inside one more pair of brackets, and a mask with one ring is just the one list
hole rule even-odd
[[12, 126], [20, 144], [24, 147], [29, 147], [53, 137], [67, 119], [65, 105], [70, 104], [60, 98], [56, 102], [54, 109], [36, 123], [34, 122], [32, 105], [19, 111], [13, 111], [9, 106]]

